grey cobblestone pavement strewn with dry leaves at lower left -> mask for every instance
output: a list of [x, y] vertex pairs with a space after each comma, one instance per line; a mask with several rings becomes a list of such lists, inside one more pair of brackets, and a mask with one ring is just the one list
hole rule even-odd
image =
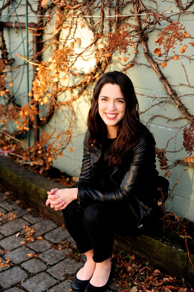
[[[64, 292], [71, 290], [71, 281], [83, 266], [85, 256], [76, 261], [75, 241], [67, 230], [54, 222], [33, 216], [27, 209], [0, 193], [0, 212], [5, 215], [0, 221], [0, 258], [2, 263], [13, 265], [0, 268], [0, 291], [6, 292]], [[10, 213], [13, 221], [7, 219]], [[9, 215], [8, 215], [9, 214]], [[3, 218], [3, 216], [1, 216]], [[35, 242], [24, 244], [23, 225], [35, 230]], [[18, 232], [20, 232], [18, 236]], [[18, 236], [18, 237], [17, 237]], [[36, 239], [36, 237], [43, 239]], [[112, 280], [108, 291], [122, 291]]]

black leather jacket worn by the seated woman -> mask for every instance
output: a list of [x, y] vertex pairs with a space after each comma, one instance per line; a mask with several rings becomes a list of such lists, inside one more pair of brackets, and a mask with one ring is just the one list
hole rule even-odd
[[[151, 134], [142, 132], [126, 161], [113, 169], [111, 190], [100, 186], [100, 148], [87, 147], [88, 130], [83, 142], [83, 163], [79, 180], [71, 187], [78, 187], [78, 210], [94, 202], [125, 201], [133, 212], [137, 226], [157, 209], [156, 192], [158, 171], [155, 169], [155, 141]], [[156, 208], [155, 208], [156, 207]]]

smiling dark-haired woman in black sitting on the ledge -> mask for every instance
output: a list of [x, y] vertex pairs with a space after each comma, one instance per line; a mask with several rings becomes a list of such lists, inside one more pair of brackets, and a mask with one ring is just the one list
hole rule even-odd
[[105, 291], [114, 270], [114, 233], [150, 228], [160, 213], [155, 141], [139, 121], [138, 109], [127, 75], [103, 74], [91, 100], [80, 178], [71, 188], [48, 192], [46, 205], [62, 210], [79, 253], [87, 257], [73, 291]]

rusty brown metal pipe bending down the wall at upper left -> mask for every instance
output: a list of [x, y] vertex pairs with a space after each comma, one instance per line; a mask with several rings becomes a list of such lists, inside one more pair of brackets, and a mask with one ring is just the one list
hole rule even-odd
[[[4, 26], [4, 27], [8, 27], [8, 28], [19, 28], [19, 24], [20, 24], [20, 27], [23, 28], [23, 29], [26, 29], [26, 23], [25, 22], [20, 22], [18, 24], [18, 22], [1, 22], [1, 24]], [[30, 22], [28, 24], [28, 28], [33, 28], [33, 31], [32, 31], [32, 34], [33, 34], [33, 59], [32, 59], [32, 62], [33, 63], [36, 63], [36, 59], [37, 59], [37, 53], [39, 51], [39, 38], [36, 34], [37, 31], [34, 30], [37, 28], [37, 24], [34, 23], [34, 22]], [[36, 65], [33, 65], [33, 78], [32, 78], [32, 82], [36, 79]], [[37, 111], [39, 111], [39, 103], [35, 102], [34, 105], [36, 106], [36, 109]], [[34, 115], [34, 124], [33, 124], [33, 128], [34, 128], [34, 142], [38, 141], [39, 140], [39, 115], [35, 114]]]

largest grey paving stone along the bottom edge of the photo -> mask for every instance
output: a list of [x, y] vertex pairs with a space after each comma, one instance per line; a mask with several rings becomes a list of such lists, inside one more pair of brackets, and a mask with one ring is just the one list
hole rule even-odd
[[48, 288], [56, 284], [56, 280], [47, 273], [42, 272], [37, 276], [30, 278], [22, 284], [22, 287], [29, 292], [46, 291]]

